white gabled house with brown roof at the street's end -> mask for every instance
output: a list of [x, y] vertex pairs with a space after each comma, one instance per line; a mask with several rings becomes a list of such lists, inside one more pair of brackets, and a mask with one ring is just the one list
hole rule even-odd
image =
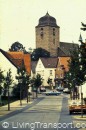
[[49, 86], [48, 78], [52, 80], [52, 85], [55, 86], [55, 69], [57, 67], [57, 58], [39, 58], [36, 65], [36, 74], [40, 74], [43, 79], [43, 85]]

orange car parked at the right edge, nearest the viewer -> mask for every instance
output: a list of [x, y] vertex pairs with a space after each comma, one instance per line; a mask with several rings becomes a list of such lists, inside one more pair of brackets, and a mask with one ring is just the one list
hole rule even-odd
[[74, 112], [81, 112], [81, 109], [86, 113], [86, 105], [83, 103], [82, 106], [81, 101], [73, 100], [69, 105], [69, 114], [71, 115]]

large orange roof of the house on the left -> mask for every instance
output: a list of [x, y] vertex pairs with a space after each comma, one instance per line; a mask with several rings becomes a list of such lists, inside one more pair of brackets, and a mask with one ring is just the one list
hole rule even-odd
[[5, 52], [0, 49], [0, 52], [16, 67], [22, 68], [25, 66], [26, 71], [31, 73], [31, 59], [30, 54], [24, 54], [23, 52]]

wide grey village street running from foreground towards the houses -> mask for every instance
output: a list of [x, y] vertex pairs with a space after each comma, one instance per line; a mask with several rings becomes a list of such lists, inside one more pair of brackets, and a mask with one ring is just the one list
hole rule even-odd
[[[31, 105], [0, 119], [0, 129], [6, 130], [77, 130], [68, 112], [68, 95], [41, 95]], [[81, 130], [81, 129], [78, 129]], [[84, 129], [85, 130], [85, 129]]]

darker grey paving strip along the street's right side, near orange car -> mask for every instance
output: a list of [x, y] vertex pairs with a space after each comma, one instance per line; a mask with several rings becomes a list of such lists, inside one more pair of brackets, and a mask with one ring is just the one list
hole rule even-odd
[[68, 98], [64, 97], [62, 101], [62, 109], [60, 113], [60, 119], [58, 122], [58, 130], [78, 130], [73, 125], [73, 119], [69, 115], [68, 110]]

